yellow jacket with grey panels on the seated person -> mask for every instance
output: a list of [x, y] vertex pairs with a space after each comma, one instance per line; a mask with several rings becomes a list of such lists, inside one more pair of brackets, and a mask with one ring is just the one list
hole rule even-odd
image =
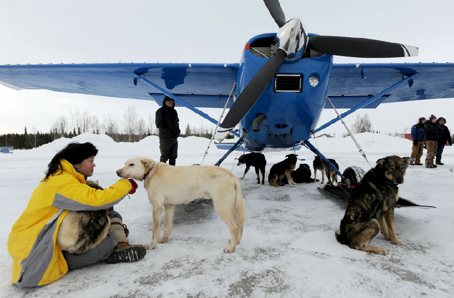
[[71, 163], [65, 159], [61, 163], [63, 171], [59, 167], [33, 191], [27, 208], [8, 237], [8, 252], [13, 258], [13, 283], [20, 287], [48, 284], [68, 272], [56, 236], [70, 210], [107, 209], [132, 189], [125, 179], [104, 190], [93, 189]]

